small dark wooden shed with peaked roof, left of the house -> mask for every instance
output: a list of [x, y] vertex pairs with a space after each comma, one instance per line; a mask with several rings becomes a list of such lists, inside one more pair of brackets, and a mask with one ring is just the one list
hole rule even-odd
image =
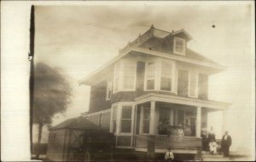
[[102, 149], [109, 153], [113, 139], [112, 133], [79, 116], [49, 129], [46, 158], [51, 161], [83, 161], [90, 159], [91, 153], [104, 152]]

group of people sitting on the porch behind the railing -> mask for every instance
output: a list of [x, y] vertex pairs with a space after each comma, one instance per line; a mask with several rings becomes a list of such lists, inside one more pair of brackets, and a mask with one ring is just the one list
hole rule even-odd
[[170, 126], [168, 120], [160, 120], [158, 132], [160, 135], [191, 136], [189, 125]]

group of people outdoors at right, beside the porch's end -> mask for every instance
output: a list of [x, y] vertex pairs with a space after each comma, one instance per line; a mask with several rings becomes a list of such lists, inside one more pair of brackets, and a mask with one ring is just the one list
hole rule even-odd
[[215, 134], [211, 127], [210, 131], [202, 129], [202, 150], [209, 151], [211, 154], [217, 154], [218, 151], [222, 151], [224, 156], [227, 157], [230, 155], [230, 146], [231, 146], [231, 137], [228, 131], [225, 131], [224, 136], [222, 137], [220, 145], [216, 142]]

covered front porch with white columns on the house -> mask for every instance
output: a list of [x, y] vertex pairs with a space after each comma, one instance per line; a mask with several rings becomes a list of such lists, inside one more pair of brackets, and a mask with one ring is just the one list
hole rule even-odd
[[207, 128], [208, 113], [222, 111], [225, 120], [227, 107], [228, 103], [197, 98], [144, 95], [136, 101], [133, 147], [154, 153], [166, 152], [171, 147], [174, 152], [186, 150], [195, 154], [201, 148], [201, 128]]

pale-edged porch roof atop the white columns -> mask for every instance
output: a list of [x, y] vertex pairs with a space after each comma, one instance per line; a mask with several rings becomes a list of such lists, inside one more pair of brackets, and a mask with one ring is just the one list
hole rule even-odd
[[150, 92], [148, 94], [135, 98], [136, 104], [146, 103], [149, 101], [186, 104], [190, 106], [203, 107], [203, 108], [216, 109], [216, 110], [228, 109], [230, 106], [230, 103], [224, 103], [224, 102], [218, 102], [218, 101], [212, 101], [212, 100], [202, 100], [198, 98], [184, 98], [184, 97], [160, 94], [155, 92]]

